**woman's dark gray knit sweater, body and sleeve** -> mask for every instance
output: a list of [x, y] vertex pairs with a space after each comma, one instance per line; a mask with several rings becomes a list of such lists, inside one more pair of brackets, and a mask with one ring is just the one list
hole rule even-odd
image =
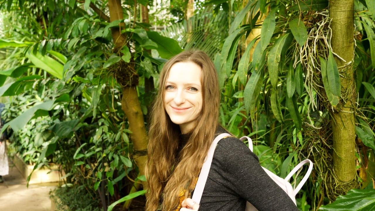
[[[220, 127], [216, 135], [221, 133], [226, 131]], [[264, 172], [257, 155], [240, 139], [226, 137], [216, 146], [199, 211], [244, 211], [246, 200], [259, 211], [299, 211]]]

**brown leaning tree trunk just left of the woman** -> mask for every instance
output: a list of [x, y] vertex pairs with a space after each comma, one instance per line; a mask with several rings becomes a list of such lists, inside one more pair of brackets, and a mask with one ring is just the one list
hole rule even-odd
[[[111, 22], [123, 19], [121, 0], [109, 0], [108, 8], [110, 10]], [[115, 52], [127, 44], [127, 40], [121, 35], [121, 29], [119, 28], [113, 28], [112, 37], [115, 44]], [[125, 69], [123, 71], [129, 70]], [[139, 174], [144, 175], [145, 161], [147, 158], [145, 154], [147, 149], [147, 133], [144, 125], [141, 103], [139, 102], [138, 93], [136, 91], [136, 85], [128, 85], [123, 88], [121, 107], [129, 121], [129, 130], [132, 131], [130, 138], [133, 142], [135, 163], [138, 166]]]

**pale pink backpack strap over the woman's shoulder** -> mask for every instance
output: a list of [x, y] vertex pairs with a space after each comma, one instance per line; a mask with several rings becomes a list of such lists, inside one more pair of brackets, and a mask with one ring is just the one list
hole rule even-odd
[[199, 173], [198, 181], [196, 182], [193, 197], [192, 197], [193, 201], [198, 204], [201, 202], [203, 189], [207, 181], [208, 172], [210, 172], [212, 157], [215, 152], [216, 145], [221, 139], [227, 136], [231, 136], [231, 135], [228, 133], [222, 133], [219, 136], [216, 136], [216, 138], [211, 143], [210, 149], [208, 149], [207, 157], [203, 163], [201, 173]]

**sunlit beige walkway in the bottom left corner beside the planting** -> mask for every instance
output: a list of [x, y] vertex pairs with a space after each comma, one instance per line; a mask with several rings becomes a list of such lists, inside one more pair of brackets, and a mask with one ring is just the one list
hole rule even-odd
[[0, 183], [0, 210], [4, 211], [51, 211], [49, 191], [57, 183], [30, 184], [18, 169], [9, 162], [9, 175]]

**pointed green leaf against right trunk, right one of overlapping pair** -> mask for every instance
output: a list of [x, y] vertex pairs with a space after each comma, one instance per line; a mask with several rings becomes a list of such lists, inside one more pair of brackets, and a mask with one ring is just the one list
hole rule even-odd
[[336, 96], [341, 95], [341, 81], [339, 75], [339, 68], [335, 59], [333, 58], [333, 53], [330, 51], [327, 61], [327, 79], [329, 88], [332, 94]]

